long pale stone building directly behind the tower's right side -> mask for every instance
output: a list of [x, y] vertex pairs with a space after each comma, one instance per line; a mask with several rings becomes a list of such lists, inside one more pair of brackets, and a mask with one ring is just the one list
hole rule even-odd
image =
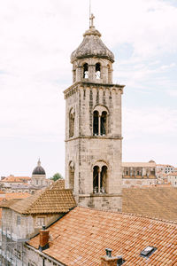
[[122, 162], [122, 183], [123, 187], [157, 184], [156, 162]]

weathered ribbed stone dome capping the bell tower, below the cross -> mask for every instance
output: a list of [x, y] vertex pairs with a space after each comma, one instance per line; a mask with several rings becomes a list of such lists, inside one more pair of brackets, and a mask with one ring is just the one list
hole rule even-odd
[[76, 59], [86, 58], [101, 58], [108, 59], [114, 62], [114, 55], [102, 42], [101, 34], [94, 26], [89, 27], [89, 30], [83, 35], [83, 41], [80, 46], [73, 51], [71, 55], [71, 62], [73, 63]]

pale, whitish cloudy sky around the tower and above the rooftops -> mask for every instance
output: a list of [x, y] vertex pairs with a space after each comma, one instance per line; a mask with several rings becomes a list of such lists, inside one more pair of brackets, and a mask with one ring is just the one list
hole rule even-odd
[[[0, 176], [65, 176], [71, 53], [89, 0], [0, 0]], [[92, 0], [122, 96], [123, 161], [177, 166], [176, 0]]]

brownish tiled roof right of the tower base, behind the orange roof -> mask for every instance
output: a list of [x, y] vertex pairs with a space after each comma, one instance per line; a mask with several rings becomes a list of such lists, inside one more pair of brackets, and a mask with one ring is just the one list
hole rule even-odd
[[177, 188], [123, 189], [122, 211], [177, 222]]

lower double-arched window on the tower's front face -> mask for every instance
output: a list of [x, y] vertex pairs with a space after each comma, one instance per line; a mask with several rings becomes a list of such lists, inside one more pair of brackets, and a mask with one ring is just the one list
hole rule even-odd
[[98, 162], [93, 168], [93, 193], [108, 192], [108, 168], [104, 162]]

